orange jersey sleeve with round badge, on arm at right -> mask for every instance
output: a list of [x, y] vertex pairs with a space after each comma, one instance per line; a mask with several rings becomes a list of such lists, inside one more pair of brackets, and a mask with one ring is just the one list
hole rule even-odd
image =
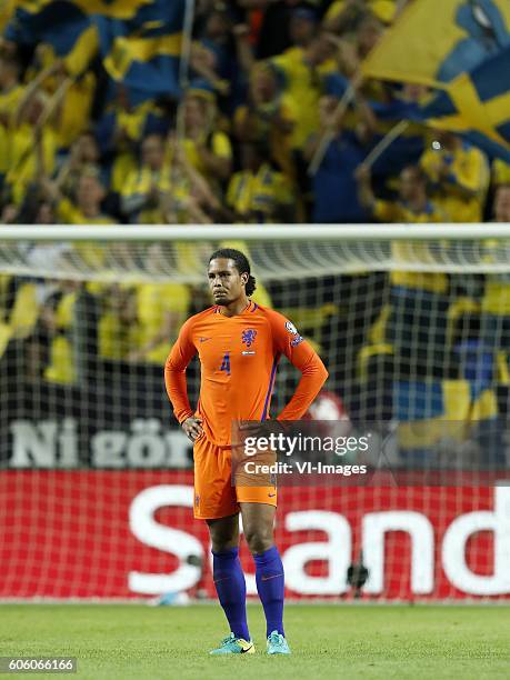
[[319, 354], [298, 332], [296, 326], [282, 314], [273, 312], [271, 323], [273, 350], [284, 354], [299, 371], [301, 379], [291, 400], [277, 420], [299, 420], [304, 416], [313, 399], [328, 378], [328, 371]]

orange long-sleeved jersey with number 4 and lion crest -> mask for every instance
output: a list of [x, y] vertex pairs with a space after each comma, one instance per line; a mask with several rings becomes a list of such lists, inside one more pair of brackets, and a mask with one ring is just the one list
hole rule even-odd
[[193, 414], [186, 368], [198, 352], [200, 399], [196, 414], [209, 441], [231, 442], [232, 421], [269, 418], [277, 366], [284, 354], [301, 371], [298, 388], [279, 420], [301, 418], [328, 371], [312, 347], [282, 314], [254, 302], [234, 317], [216, 306], [188, 319], [164, 366], [164, 382], [179, 422]]

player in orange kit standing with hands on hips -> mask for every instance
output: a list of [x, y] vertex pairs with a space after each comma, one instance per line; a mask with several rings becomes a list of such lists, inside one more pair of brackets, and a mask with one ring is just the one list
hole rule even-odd
[[[274, 546], [274, 486], [232, 486], [232, 421], [269, 417], [278, 361], [284, 354], [302, 376], [279, 420], [297, 420], [311, 404], [328, 372], [296, 327], [250, 300], [254, 278], [246, 256], [233, 249], [209, 261], [214, 306], [183, 324], [164, 367], [176, 418], [194, 442], [194, 517], [209, 526], [213, 580], [230, 636], [213, 654], [253, 653], [246, 613], [246, 582], [239, 561], [239, 512], [256, 563], [257, 590], [267, 620], [269, 654], [290, 653], [283, 630], [283, 566]], [[186, 368], [198, 353], [200, 399], [190, 407]]]

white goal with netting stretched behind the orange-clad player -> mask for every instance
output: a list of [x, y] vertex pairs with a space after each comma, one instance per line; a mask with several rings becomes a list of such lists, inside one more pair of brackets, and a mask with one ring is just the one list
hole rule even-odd
[[0, 597], [213, 596], [162, 367], [233, 247], [329, 370], [307, 418], [369, 433], [382, 472], [282, 483], [289, 596], [508, 598], [506, 228], [0, 228]]

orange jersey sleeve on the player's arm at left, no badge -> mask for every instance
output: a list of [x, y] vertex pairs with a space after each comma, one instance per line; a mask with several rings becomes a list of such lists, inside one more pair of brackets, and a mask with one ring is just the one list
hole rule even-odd
[[186, 384], [186, 369], [197, 353], [197, 348], [191, 338], [192, 326], [192, 319], [188, 319], [181, 328], [177, 342], [164, 364], [167, 394], [173, 406], [173, 413], [180, 423], [193, 414]]

